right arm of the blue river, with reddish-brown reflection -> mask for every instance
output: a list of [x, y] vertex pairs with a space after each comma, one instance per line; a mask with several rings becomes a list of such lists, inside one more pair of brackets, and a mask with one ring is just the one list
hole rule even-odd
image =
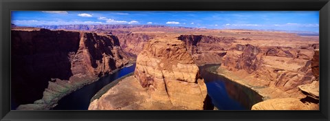
[[253, 104], [262, 101], [256, 91], [234, 83], [216, 72], [219, 65], [204, 65], [199, 67], [201, 77], [208, 88], [208, 96], [219, 110], [250, 110]]

